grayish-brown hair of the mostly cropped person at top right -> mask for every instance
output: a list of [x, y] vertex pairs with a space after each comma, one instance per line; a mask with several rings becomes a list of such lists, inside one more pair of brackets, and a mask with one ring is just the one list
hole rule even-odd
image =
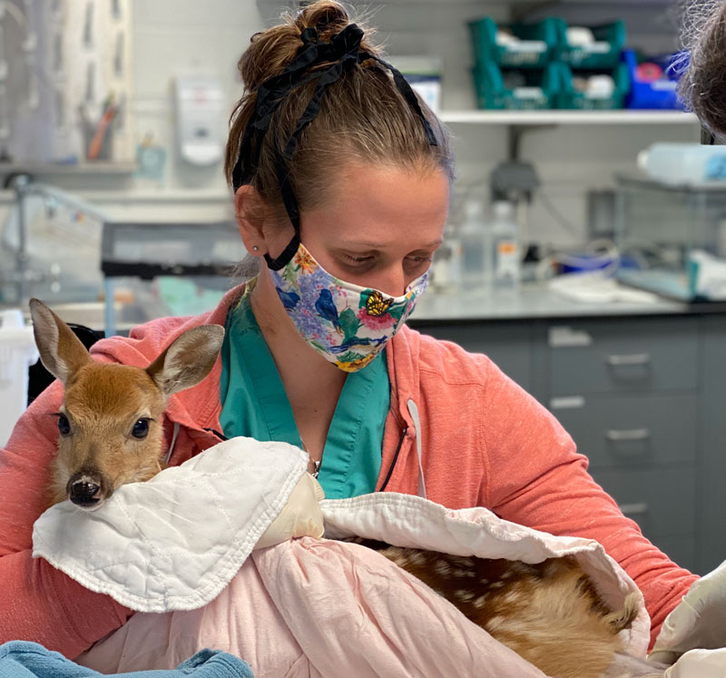
[[684, 9], [682, 43], [690, 56], [679, 93], [711, 133], [726, 136], [726, 3], [690, 0]]

